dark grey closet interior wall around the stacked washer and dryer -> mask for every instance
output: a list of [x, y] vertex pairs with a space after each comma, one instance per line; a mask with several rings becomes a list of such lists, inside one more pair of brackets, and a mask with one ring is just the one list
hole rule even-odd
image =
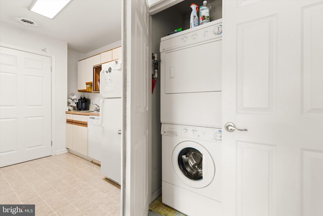
[[[175, 29], [182, 28], [182, 30], [189, 29], [190, 14], [192, 9], [190, 5], [195, 3], [202, 6], [203, 1], [188, 1], [180, 2], [168, 9], [160, 11], [151, 15], [151, 52], [157, 54], [157, 59], [160, 59], [160, 38], [167, 36], [169, 33], [174, 32]], [[222, 18], [222, 0], [208, 0], [207, 4], [210, 9], [210, 20], [215, 21]], [[175, 33], [176, 34], [180, 34]], [[193, 53], [192, 55], [198, 55]], [[190, 60], [191, 61], [191, 60]], [[183, 60], [182, 62], [185, 62]], [[199, 62], [195, 62], [197, 65]], [[152, 200], [161, 194], [161, 135], [160, 135], [160, 66], [158, 65], [157, 77], [154, 78], [155, 88], [152, 94]], [[153, 70], [152, 70], [153, 71]], [[196, 71], [198, 73], [198, 71]], [[164, 81], [164, 80], [163, 80]], [[181, 81], [181, 80], [176, 80]], [[176, 91], [176, 90], [175, 90]], [[197, 115], [197, 113], [192, 113]], [[172, 168], [172, 167], [170, 167]]]

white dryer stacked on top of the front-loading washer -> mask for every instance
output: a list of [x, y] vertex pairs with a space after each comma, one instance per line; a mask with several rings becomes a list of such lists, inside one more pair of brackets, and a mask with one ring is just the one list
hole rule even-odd
[[161, 123], [221, 127], [222, 20], [160, 39]]

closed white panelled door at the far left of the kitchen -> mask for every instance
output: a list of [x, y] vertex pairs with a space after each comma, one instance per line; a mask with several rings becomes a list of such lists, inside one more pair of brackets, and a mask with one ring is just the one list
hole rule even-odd
[[51, 155], [51, 58], [0, 47], [0, 166]]

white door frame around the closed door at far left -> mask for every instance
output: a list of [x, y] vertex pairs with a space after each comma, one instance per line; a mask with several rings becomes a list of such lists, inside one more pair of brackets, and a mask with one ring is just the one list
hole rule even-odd
[[50, 64], [51, 64], [51, 74], [50, 74], [50, 83], [51, 83], [51, 88], [50, 88], [50, 108], [51, 108], [51, 114], [50, 114], [50, 136], [51, 136], [51, 154], [50, 155], [55, 155], [55, 147], [56, 147], [56, 140], [55, 140], [55, 129], [56, 128], [56, 116], [55, 116], [55, 106], [54, 106], [54, 98], [55, 98], [55, 90], [56, 90], [56, 83], [55, 83], [55, 55], [47, 53], [47, 52], [39, 52], [36, 50], [32, 50], [32, 49], [27, 49], [24, 47], [19, 47], [19, 46], [15, 46], [12, 44], [7, 44], [5, 42], [0, 42], [0, 47], [5, 47], [5, 48], [9, 48], [9, 49], [13, 49], [13, 50], [17, 50], [17, 51], [22, 51], [22, 52], [27, 52], [27, 53], [32, 53], [32, 54], [36, 54], [36, 55], [40, 55], [40, 56], [46, 56], [49, 57], [51, 59]]

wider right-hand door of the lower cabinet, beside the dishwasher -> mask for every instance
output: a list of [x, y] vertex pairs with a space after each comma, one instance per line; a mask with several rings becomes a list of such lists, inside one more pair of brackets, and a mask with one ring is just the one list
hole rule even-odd
[[73, 124], [73, 151], [87, 156], [87, 127]]

